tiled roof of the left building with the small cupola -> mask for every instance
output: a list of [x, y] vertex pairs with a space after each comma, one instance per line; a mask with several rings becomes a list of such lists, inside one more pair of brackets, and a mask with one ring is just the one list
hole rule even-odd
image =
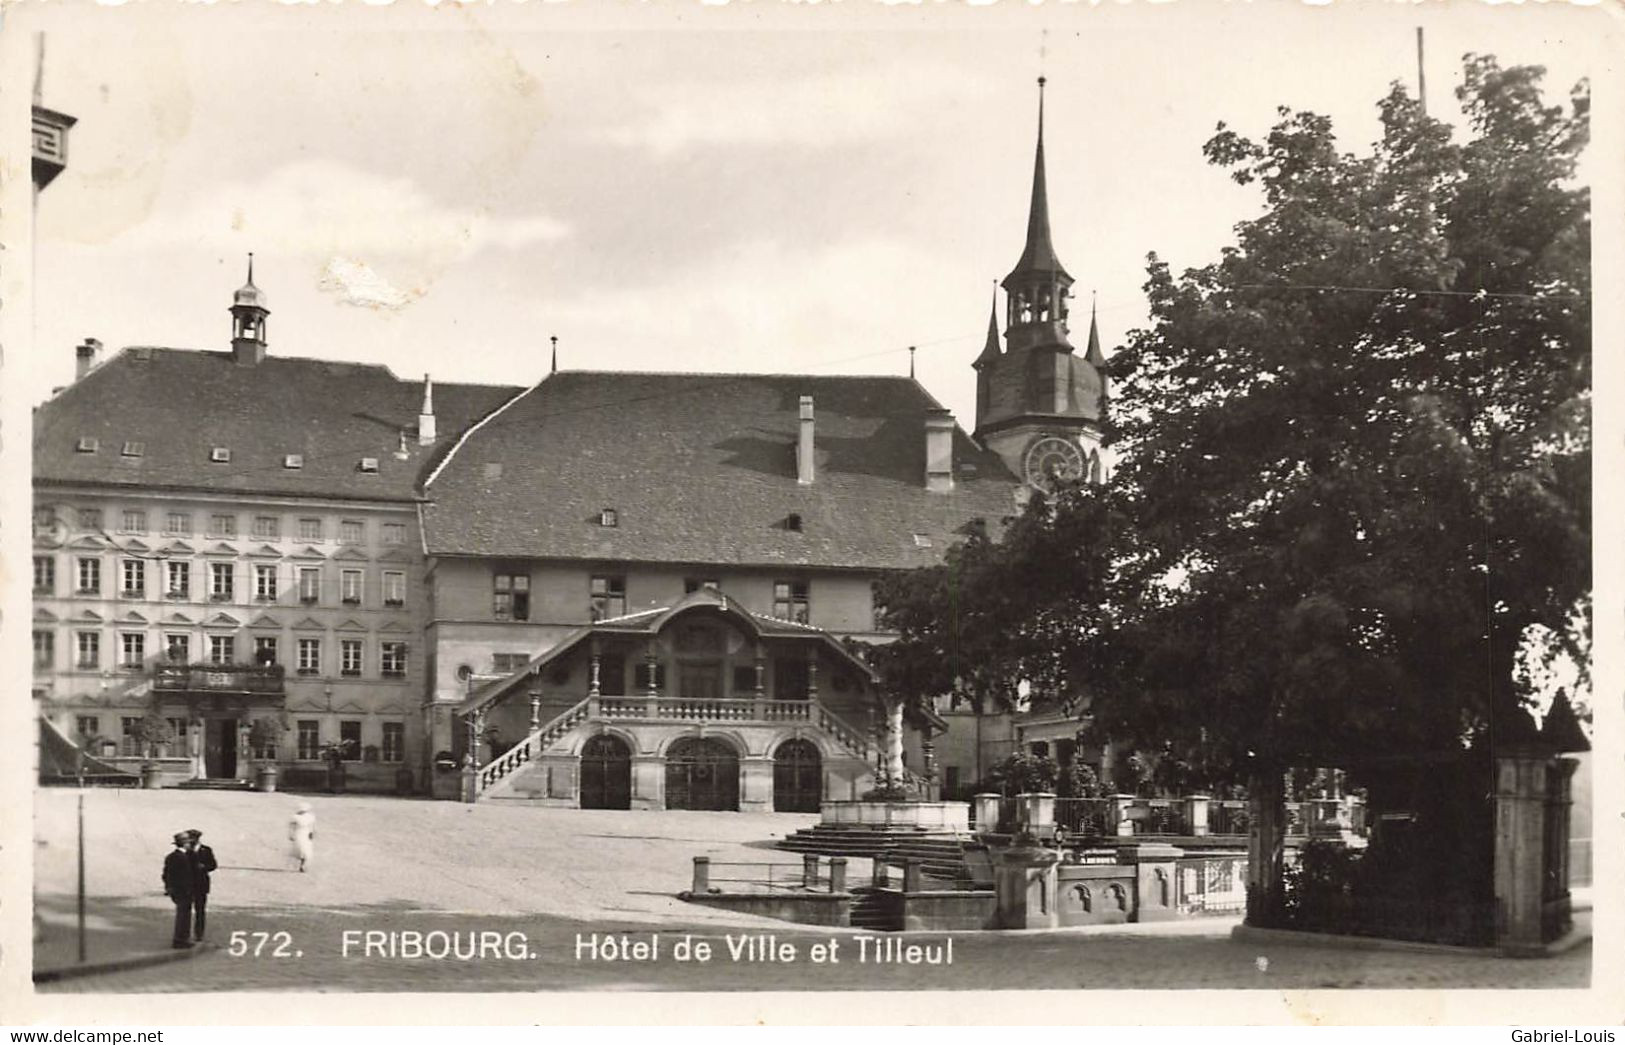
[[[421, 379], [325, 359], [237, 366], [231, 353], [127, 348], [34, 411], [34, 481], [408, 501], [457, 432], [517, 392], [436, 384], [440, 439], [419, 447]], [[401, 431], [406, 460], [395, 457]], [[80, 452], [81, 440], [96, 440], [94, 452]], [[214, 447], [231, 460], [213, 462]], [[302, 455], [301, 468], [284, 466], [289, 453]], [[361, 471], [362, 457], [377, 460], [375, 475]]]

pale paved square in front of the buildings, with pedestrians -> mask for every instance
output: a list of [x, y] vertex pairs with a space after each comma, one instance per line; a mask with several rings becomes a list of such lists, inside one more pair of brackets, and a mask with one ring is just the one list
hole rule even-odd
[[[75, 801], [76, 791], [46, 790], [36, 806], [41, 965], [72, 960]], [[1232, 941], [1235, 921], [1225, 918], [876, 938], [674, 897], [687, 886], [697, 855], [718, 863], [795, 863], [793, 853], [770, 843], [814, 819], [796, 814], [314, 796], [317, 861], [299, 874], [288, 856], [286, 832], [297, 801], [229, 791], [86, 793], [91, 957], [166, 946], [171, 907], [158, 876], [169, 835], [184, 827], [203, 830], [221, 861], [210, 905], [214, 947], [180, 962], [42, 990], [1298, 990], [1557, 988], [1589, 982], [1589, 946], [1545, 960], [1266, 947]], [[861, 876], [864, 865], [855, 861], [855, 873]], [[244, 933], [239, 949], [249, 952], [231, 952], [232, 933]], [[920, 944], [921, 960], [910, 964], [907, 954], [882, 951], [876, 939]], [[947, 939], [952, 964], [942, 952]], [[679, 951], [684, 943], [687, 957]], [[710, 946], [708, 960], [699, 957], [702, 943]], [[448, 951], [440, 957], [421, 952], [437, 946]], [[470, 957], [457, 957], [458, 949]], [[632, 954], [622, 956], [629, 949]], [[941, 964], [926, 962], [933, 949]]]

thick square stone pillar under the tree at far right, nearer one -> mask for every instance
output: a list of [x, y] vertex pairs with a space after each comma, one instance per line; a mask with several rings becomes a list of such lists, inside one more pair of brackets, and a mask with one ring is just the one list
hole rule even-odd
[[1547, 800], [1554, 759], [1540, 752], [1495, 759], [1495, 943], [1508, 954], [1539, 954], [1547, 943]]

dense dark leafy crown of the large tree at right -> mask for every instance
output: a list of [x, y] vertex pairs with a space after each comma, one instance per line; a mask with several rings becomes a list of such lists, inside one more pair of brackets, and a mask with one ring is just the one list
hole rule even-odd
[[881, 592], [916, 692], [1090, 702], [1212, 780], [1493, 739], [1539, 632], [1584, 663], [1588, 94], [1467, 55], [1466, 140], [1394, 86], [1381, 138], [1279, 111], [1206, 156], [1263, 193], [1113, 354], [1107, 488], [1037, 499]]

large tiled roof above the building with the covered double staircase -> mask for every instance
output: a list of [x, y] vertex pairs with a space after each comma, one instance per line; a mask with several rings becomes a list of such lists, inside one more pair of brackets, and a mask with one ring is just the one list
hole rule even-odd
[[[796, 481], [800, 397], [816, 479]], [[907, 569], [1014, 512], [998, 455], [954, 431], [956, 489], [925, 489], [904, 377], [564, 372], [468, 436], [427, 486], [431, 554]], [[614, 509], [618, 525], [600, 525]], [[801, 531], [786, 525], [801, 517]], [[916, 536], [918, 535], [918, 536]]]

